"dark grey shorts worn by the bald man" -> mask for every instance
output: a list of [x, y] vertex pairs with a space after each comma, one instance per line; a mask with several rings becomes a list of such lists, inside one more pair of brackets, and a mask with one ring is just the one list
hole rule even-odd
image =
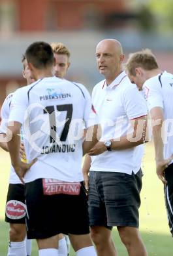
[[90, 226], [138, 228], [142, 170], [136, 175], [103, 171], [89, 172]]

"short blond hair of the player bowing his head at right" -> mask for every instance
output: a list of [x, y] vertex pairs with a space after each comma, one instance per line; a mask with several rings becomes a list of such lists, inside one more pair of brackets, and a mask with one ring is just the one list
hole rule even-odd
[[129, 58], [125, 64], [125, 70], [129, 75], [136, 75], [135, 68], [141, 67], [144, 70], [155, 70], [158, 68], [157, 60], [149, 49], [129, 54]]

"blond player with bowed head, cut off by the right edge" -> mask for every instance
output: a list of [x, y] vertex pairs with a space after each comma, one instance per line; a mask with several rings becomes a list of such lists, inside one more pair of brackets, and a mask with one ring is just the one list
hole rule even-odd
[[149, 49], [130, 54], [127, 74], [144, 90], [151, 116], [157, 176], [165, 184], [165, 202], [170, 232], [173, 235], [173, 75], [162, 72]]

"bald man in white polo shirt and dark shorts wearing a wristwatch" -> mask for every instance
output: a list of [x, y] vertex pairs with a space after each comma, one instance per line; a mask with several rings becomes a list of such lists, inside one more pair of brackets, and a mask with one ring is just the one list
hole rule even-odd
[[96, 58], [99, 72], [105, 77], [92, 93], [102, 137], [86, 156], [83, 167], [86, 188], [89, 182], [91, 238], [97, 255], [115, 256], [111, 230], [117, 226], [128, 254], [146, 256], [138, 231], [146, 103], [123, 72], [124, 55], [119, 41], [99, 42]]

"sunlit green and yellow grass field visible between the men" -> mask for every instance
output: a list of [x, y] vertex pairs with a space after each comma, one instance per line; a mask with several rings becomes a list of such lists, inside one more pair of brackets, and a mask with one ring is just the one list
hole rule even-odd
[[[155, 175], [154, 152], [151, 143], [146, 144], [142, 169], [144, 171], [143, 188], [141, 193], [142, 205], [140, 207], [140, 232], [149, 256], [172, 256], [173, 241], [170, 235], [165, 211], [163, 184]], [[3, 221], [5, 200], [8, 187], [10, 160], [3, 150], [0, 150], [0, 256], [7, 255], [8, 224]], [[119, 256], [127, 255], [125, 247], [121, 244], [116, 228], [113, 238]], [[33, 241], [32, 256], [38, 255], [37, 245]], [[71, 256], [74, 251], [71, 250]], [[138, 255], [140, 256], [140, 255]]]

